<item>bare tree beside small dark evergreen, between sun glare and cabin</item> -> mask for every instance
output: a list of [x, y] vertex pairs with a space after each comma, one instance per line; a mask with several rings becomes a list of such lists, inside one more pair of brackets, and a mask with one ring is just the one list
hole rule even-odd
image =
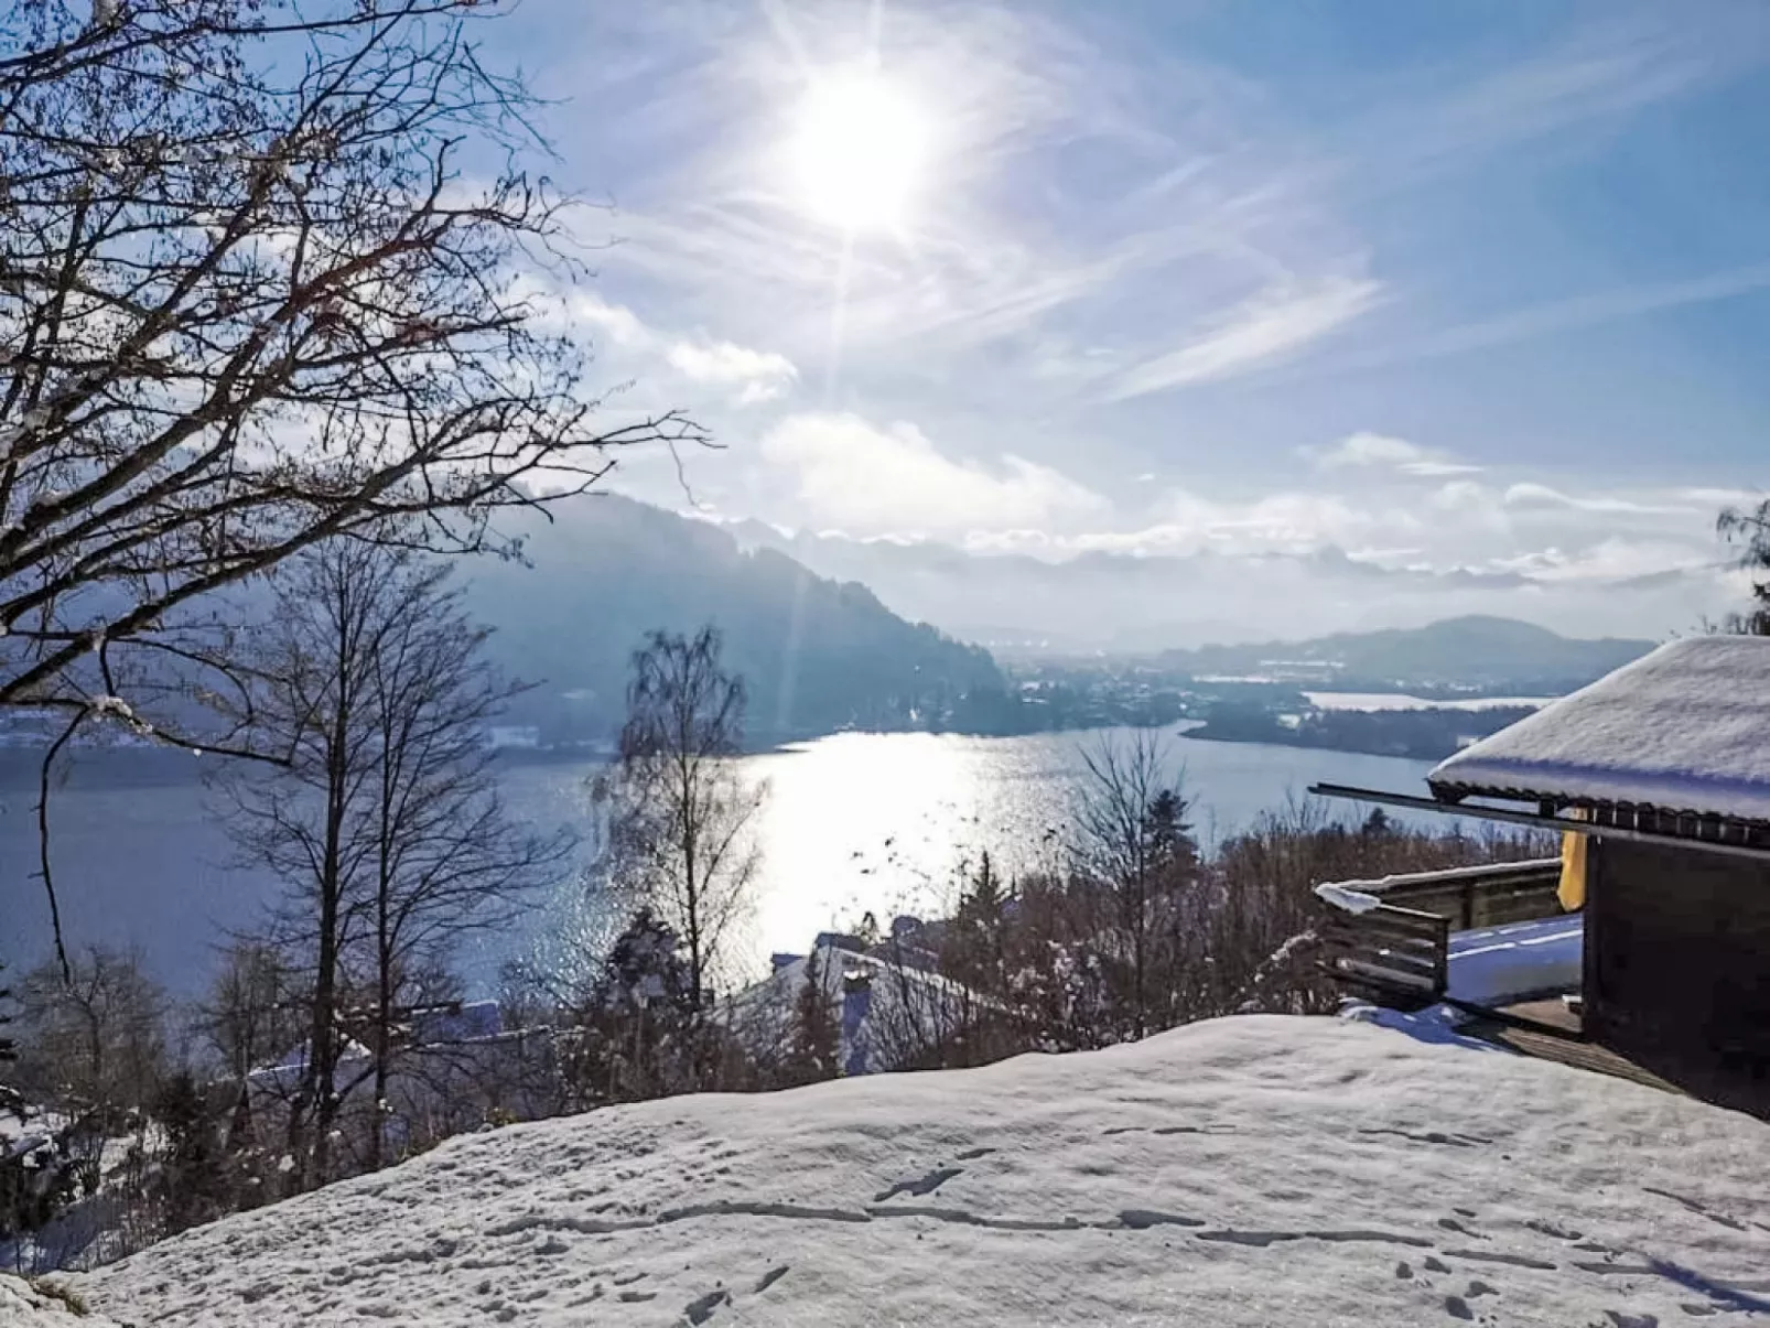
[[[1198, 850], [1184, 822], [1186, 800], [1170, 781], [1161, 737], [1101, 738], [1081, 753], [1087, 788], [1076, 807], [1076, 868], [1104, 894], [1129, 969], [1129, 1032], [1149, 1032], [1172, 992], [1152, 992], [1158, 951], [1174, 940], [1174, 892], [1197, 875]], [[1172, 947], [1168, 951], [1172, 958]], [[1168, 974], [1172, 979], [1172, 974]], [[1159, 1008], [1158, 1008], [1159, 1002]]]

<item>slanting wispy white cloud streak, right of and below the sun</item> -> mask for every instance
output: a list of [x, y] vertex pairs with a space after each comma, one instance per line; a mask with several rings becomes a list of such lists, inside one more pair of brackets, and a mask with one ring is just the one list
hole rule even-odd
[[1375, 306], [1377, 282], [1329, 276], [1269, 287], [1235, 306], [1202, 336], [1127, 370], [1112, 400], [1250, 374], [1299, 352]]

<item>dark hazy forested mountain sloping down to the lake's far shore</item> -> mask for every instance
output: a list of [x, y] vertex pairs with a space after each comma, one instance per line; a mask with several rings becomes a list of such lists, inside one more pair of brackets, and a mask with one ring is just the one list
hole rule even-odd
[[469, 606], [496, 629], [494, 657], [536, 683], [508, 722], [543, 740], [609, 738], [644, 634], [701, 623], [720, 629], [726, 666], [749, 683], [754, 742], [843, 726], [991, 730], [1007, 714], [986, 650], [703, 521], [586, 494], [503, 533], [522, 538], [527, 565], [474, 563]]

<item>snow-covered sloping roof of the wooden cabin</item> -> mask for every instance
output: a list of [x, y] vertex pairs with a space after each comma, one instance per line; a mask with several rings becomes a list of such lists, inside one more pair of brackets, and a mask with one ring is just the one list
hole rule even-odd
[[1770, 637], [1673, 641], [1443, 761], [1432, 791], [1770, 822]]

